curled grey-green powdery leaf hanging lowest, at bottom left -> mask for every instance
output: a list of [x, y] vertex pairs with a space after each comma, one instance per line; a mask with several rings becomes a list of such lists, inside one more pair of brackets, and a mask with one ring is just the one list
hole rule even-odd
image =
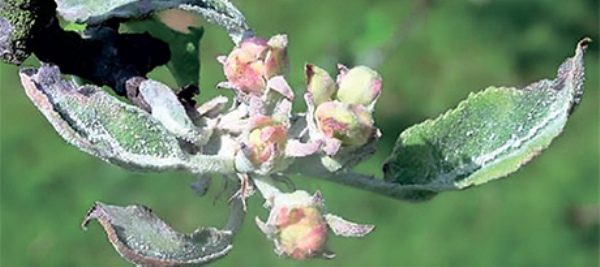
[[180, 234], [144, 206], [96, 203], [86, 215], [84, 229], [98, 220], [117, 252], [138, 266], [199, 266], [225, 256], [231, 231], [204, 228]]

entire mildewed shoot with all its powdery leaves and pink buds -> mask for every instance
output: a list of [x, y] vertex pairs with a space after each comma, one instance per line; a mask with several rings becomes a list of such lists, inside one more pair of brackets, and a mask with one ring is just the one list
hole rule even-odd
[[[217, 97], [196, 107], [167, 86], [142, 79], [134, 83], [141, 99], [136, 107], [96, 86], [77, 86], [53, 66], [23, 70], [28, 96], [55, 129], [81, 150], [114, 164], [183, 168], [198, 175], [239, 179], [239, 204], [234, 206], [243, 207], [254, 185], [271, 209], [267, 223], [257, 221], [260, 229], [274, 240], [278, 253], [296, 259], [330, 257], [325, 249], [328, 228], [342, 236], [362, 236], [372, 227], [326, 213], [318, 193], [312, 197], [304, 191], [282, 193], [272, 179], [300, 171], [407, 200], [479, 185], [514, 172], [546, 148], [562, 131], [583, 92], [587, 39], [561, 65], [555, 80], [523, 89], [489, 88], [439, 118], [405, 130], [380, 180], [350, 172], [373, 152], [380, 135], [372, 112], [382, 79], [373, 70], [341, 66], [334, 81], [325, 71], [307, 65], [308, 111], [292, 114], [293, 90], [283, 76], [287, 38], [250, 37], [243, 17], [231, 12], [235, 9], [229, 3], [175, 1], [164, 6], [165, 2], [152, 2], [154, 8], [143, 13], [141, 2], [136, 1], [94, 8], [79, 4], [59, 1], [58, 11], [65, 19], [97, 24], [140, 18], [166, 8], [200, 10], [224, 26], [236, 42], [234, 50], [221, 58], [227, 81], [220, 84], [236, 92], [236, 102], [224, 110], [226, 99]], [[197, 83], [200, 32], [175, 35], [182, 38], [154, 33], [172, 39], [171, 53], [180, 53], [169, 63], [180, 85]], [[86, 223], [98, 219], [119, 253], [135, 264], [196, 265], [231, 249], [239, 213], [234, 209], [234, 219], [224, 230], [208, 228], [181, 235], [147, 209], [99, 203]]]

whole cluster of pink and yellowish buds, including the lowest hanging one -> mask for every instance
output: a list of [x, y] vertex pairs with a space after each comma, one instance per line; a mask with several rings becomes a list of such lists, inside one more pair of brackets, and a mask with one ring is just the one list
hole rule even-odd
[[269, 218], [267, 222], [257, 218], [256, 223], [273, 240], [275, 251], [298, 260], [332, 258], [334, 254], [326, 249], [330, 231], [338, 236], [362, 237], [373, 226], [326, 213], [318, 192], [282, 193], [266, 189], [274, 187], [264, 183], [269, 177], [285, 176], [295, 158], [316, 156], [325, 169], [336, 171], [337, 166], [368, 154], [367, 145], [379, 137], [373, 109], [382, 79], [365, 66], [340, 66], [334, 80], [325, 70], [308, 64], [308, 111], [292, 115], [294, 93], [283, 75], [288, 65], [286, 46], [285, 35], [269, 40], [252, 37], [220, 58], [227, 78], [221, 87], [234, 90], [237, 97], [234, 111], [229, 113], [236, 115], [222, 117], [221, 124], [244, 125], [235, 135], [240, 143], [235, 168], [254, 175], [254, 186], [267, 199]]

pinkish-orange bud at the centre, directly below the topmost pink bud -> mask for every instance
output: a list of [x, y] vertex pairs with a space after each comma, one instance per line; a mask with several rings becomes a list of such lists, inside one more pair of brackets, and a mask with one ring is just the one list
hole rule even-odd
[[287, 139], [285, 125], [265, 116], [253, 119], [252, 123], [254, 125], [248, 135], [248, 145], [253, 164], [260, 165], [284, 152]]

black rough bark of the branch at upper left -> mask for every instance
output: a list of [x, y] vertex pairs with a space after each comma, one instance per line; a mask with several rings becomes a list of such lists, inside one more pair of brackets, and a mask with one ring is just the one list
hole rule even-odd
[[[86, 30], [83, 38], [76, 32], [64, 31], [56, 18], [56, 4], [52, 0], [30, 0], [20, 6], [19, 12], [30, 12], [35, 18], [33, 27], [20, 44], [19, 51], [33, 53], [42, 62], [57, 65], [62, 73], [73, 74], [96, 85], [106, 85], [119, 94], [126, 95], [129, 78], [145, 76], [157, 66], [166, 64], [170, 57], [169, 46], [147, 33], [121, 34], [119, 22], [109, 22]], [[2, 6], [3, 17], [7, 14]], [[10, 21], [19, 27], [19, 20]], [[5, 60], [19, 64], [20, 60]], [[4, 57], [3, 57], [4, 58]]]

